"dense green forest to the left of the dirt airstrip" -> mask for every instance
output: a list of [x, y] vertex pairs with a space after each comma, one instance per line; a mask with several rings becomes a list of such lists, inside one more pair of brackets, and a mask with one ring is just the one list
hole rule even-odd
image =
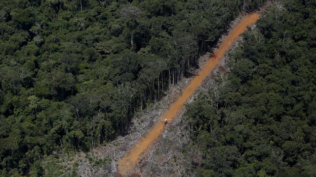
[[264, 0], [1, 0], [0, 170], [126, 133], [135, 110]]

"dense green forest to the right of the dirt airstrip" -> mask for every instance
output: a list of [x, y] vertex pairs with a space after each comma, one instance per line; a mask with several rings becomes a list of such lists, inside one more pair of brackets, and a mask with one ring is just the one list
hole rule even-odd
[[230, 72], [187, 106], [197, 176], [316, 176], [315, 9], [269, 7], [230, 53]]

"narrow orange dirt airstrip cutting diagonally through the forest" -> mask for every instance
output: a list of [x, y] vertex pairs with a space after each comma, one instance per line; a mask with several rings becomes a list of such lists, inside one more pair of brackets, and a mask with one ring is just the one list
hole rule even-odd
[[[237, 40], [239, 35], [247, 30], [247, 26], [252, 25], [259, 19], [260, 15], [258, 13], [252, 13], [245, 16], [228, 34], [226, 39], [219, 45], [218, 49], [214, 52], [214, 56], [210, 58], [198, 73], [197, 76], [193, 78], [191, 83], [183, 91], [182, 95], [170, 105], [169, 110], [166, 111], [161, 121], [165, 118], [172, 119], [180, 111], [181, 107], [186, 103], [187, 99], [194, 93], [197, 87], [202, 83], [203, 79], [208, 76], [212, 69], [217, 65], [219, 60], [224, 56], [225, 52], [232, 46], [232, 44]], [[118, 173], [122, 176], [126, 176], [129, 173], [133, 173], [136, 163], [138, 163], [141, 155], [146, 151], [146, 149], [152, 147], [151, 144], [155, 142], [164, 128], [162, 122], [158, 122], [156, 126], [144, 136], [133, 148], [126, 151], [125, 156], [118, 162]]]

